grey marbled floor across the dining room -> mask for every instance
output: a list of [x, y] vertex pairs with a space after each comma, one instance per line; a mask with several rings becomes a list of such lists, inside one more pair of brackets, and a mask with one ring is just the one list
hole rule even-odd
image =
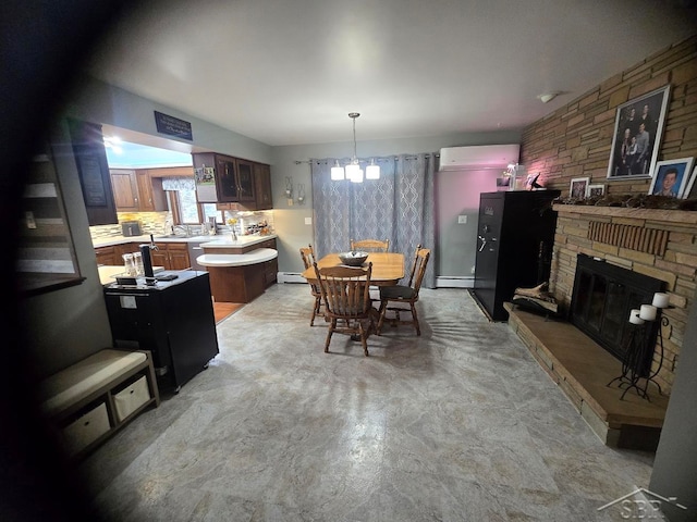
[[421, 337], [309, 326], [304, 285], [218, 325], [220, 355], [80, 468], [113, 521], [606, 521], [652, 453], [600, 443], [504, 323], [423, 289]]

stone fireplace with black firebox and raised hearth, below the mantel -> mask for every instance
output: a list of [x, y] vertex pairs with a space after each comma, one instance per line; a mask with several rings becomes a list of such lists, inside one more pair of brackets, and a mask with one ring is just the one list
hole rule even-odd
[[[655, 451], [680, 363], [687, 312], [697, 289], [697, 212], [565, 204], [553, 208], [558, 220], [549, 290], [557, 298], [561, 316], [546, 318], [505, 303], [509, 326], [604, 444]], [[588, 260], [596, 264], [594, 269], [601, 269], [585, 273]], [[592, 275], [597, 272], [600, 277]], [[617, 282], [617, 274], [627, 279]], [[633, 289], [620, 288], [626, 285]], [[586, 293], [583, 297], [579, 287]], [[655, 291], [669, 295], [670, 308], [660, 312], [668, 325], [656, 321], [635, 331], [637, 335], [653, 330], [648, 344], [639, 345], [649, 347], [640, 351], [646, 352], [641, 373], [648, 373], [652, 383], [646, 398], [625, 393], [617, 381], [624, 375], [624, 365], [616, 348], [617, 344], [622, 348], [627, 335], [621, 325], [629, 325], [625, 307], [651, 302]], [[608, 302], [613, 308], [616, 301], [623, 302], [621, 311], [611, 313], [609, 332], [603, 332], [598, 319], [604, 314], [601, 308]], [[572, 311], [580, 310], [590, 326], [587, 333], [570, 319]], [[655, 340], [659, 328], [663, 357]], [[602, 338], [606, 334], [609, 339]], [[604, 346], [604, 340], [614, 348]]]

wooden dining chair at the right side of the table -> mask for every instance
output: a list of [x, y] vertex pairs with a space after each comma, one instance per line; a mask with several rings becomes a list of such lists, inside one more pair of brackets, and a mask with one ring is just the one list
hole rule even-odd
[[[418, 291], [424, 281], [426, 266], [431, 251], [428, 248], [416, 247], [414, 262], [409, 273], [408, 283], [406, 285], [381, 286], [380, 287], [380, 319], [378, 320], [378, 335], [382, 330], [388, 311], [394, 312], [394, 319], [388, 319], [392, 326], [399, 324], [413, 324], [416, 327], [416, 335], [421, 335], [421, 328], [416, 314], [416, 302], [418, 301]], [[406, 308], [408, 306], [408, 308]], [[402, 320], [400, 313], [409, 312], [411, 320]]]

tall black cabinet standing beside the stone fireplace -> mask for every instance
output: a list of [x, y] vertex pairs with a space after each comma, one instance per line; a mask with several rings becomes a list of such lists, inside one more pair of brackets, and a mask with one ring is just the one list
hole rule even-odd
[[503, 303], [516, 288], [547, 282], [551, 269], [560, 190], [484, 192], [479, 198], [474, 297], [493, 321], [506, 321]]

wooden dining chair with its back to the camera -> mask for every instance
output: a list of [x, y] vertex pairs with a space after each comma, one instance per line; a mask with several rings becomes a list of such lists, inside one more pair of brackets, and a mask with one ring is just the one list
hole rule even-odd
[[372, 263], [360, 266], [328, 266], [320, 269], [314, 263], [315, 274], [325, 304], [325, 318], [329, 321], [325, 352], [334, 332], [359, 337], [363, 352], [368, 356], [368, 336], [375, 332], [375, 310], [368, 287]]

